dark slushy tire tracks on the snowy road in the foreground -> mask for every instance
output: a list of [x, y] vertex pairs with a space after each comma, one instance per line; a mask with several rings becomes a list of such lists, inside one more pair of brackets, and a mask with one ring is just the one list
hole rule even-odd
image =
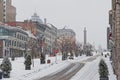
[[82, 67], [84, 63], [71, 63], [68, 67], [59, 71], [58, 73], [52, 73], [43, 78], [36, 80], [69, 80], [72, 76], [74, 76]]

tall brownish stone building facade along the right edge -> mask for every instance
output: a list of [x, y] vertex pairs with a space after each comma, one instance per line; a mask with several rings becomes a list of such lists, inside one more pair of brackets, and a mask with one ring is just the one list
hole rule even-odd
[[112, 0], [112, 10], [109, 11], [109, 24], [112, 32], [110, 46], [113, 68], [120, 80], [120, 0]]

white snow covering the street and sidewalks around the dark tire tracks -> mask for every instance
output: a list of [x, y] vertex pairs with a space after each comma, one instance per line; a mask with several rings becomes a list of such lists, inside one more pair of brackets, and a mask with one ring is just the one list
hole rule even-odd
[[[73, 77], [70, 80], [99, 80], [98, 64], [101, 58], [103, 58], [108, 65], [109, 80], [116, 80], [115, 75], [113, 74], [111, 61], [109, 61], [109, 57], [105, 58], [104, 56], [100, 55], [90, 57], [83, 55], [75, 58], [74, 60], [68, 59], [65, 61], [61, 60], [61, 55], [57, 55], [57, 58], [47, 56], [46, 60], [50, 59], [50, 64], [40, 64], [40, 59], [34, 59], [34, 66], [31, 66], [31, 70], [25, 70], [24, 58], [16, 58], [15, 61], [11, 61], [11, 77], [6, 79], [4, 78], [2, 80], [39, 80], [44, 76], [56, 74], [67, 68], [70, 64], [75, 63], [83, 63], [84, 66], [82, 66], [78, 72], [75, 72], [76, 74], [74, 76], [72, 75]], [[71, 72], [71, 69], [68, 72]]]

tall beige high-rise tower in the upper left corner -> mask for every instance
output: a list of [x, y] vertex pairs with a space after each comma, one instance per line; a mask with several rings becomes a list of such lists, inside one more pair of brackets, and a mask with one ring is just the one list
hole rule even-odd
[[16, 8], [12, 6], [11, 0], [0, 0], [0, 21], [16, 21]]

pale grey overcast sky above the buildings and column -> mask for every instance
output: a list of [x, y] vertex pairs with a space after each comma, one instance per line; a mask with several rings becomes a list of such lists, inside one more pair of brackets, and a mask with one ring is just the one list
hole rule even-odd
[[87, 42], [106, 48], [106, 27], [111, 0], [12, 0], [17, 9], [17, 21], [30, 19], [36, 12], [43, 20], [57, 28], [73, 29], [77, 40], [83, 42], [87, 28]]

